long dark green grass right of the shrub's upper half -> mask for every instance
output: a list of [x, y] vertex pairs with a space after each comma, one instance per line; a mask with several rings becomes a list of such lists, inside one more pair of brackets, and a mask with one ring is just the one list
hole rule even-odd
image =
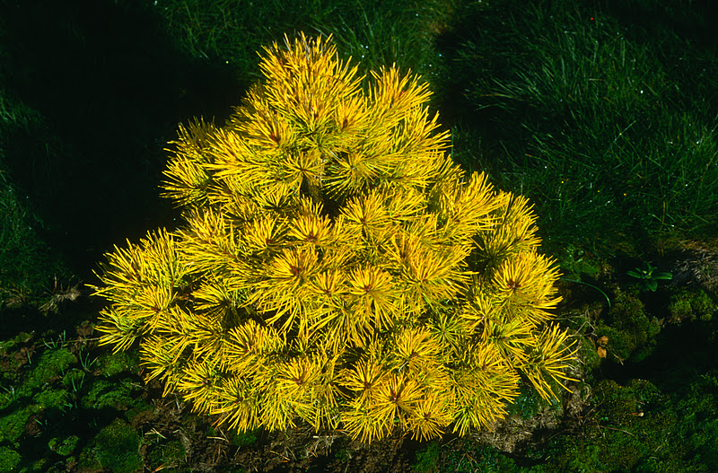
[[[457, 29], [445, 78], [468, 106], [454, 110], [455, 157], [528, 195], [549, 245], [610, 254], [645, 236], [714, 230], [711, 51], [670, 30], [629, 37], [573, 2], [499, 1], [467, 15], [475, 26]], [[703, 66], [701, 81], [671, 63], [678, 51]]]

